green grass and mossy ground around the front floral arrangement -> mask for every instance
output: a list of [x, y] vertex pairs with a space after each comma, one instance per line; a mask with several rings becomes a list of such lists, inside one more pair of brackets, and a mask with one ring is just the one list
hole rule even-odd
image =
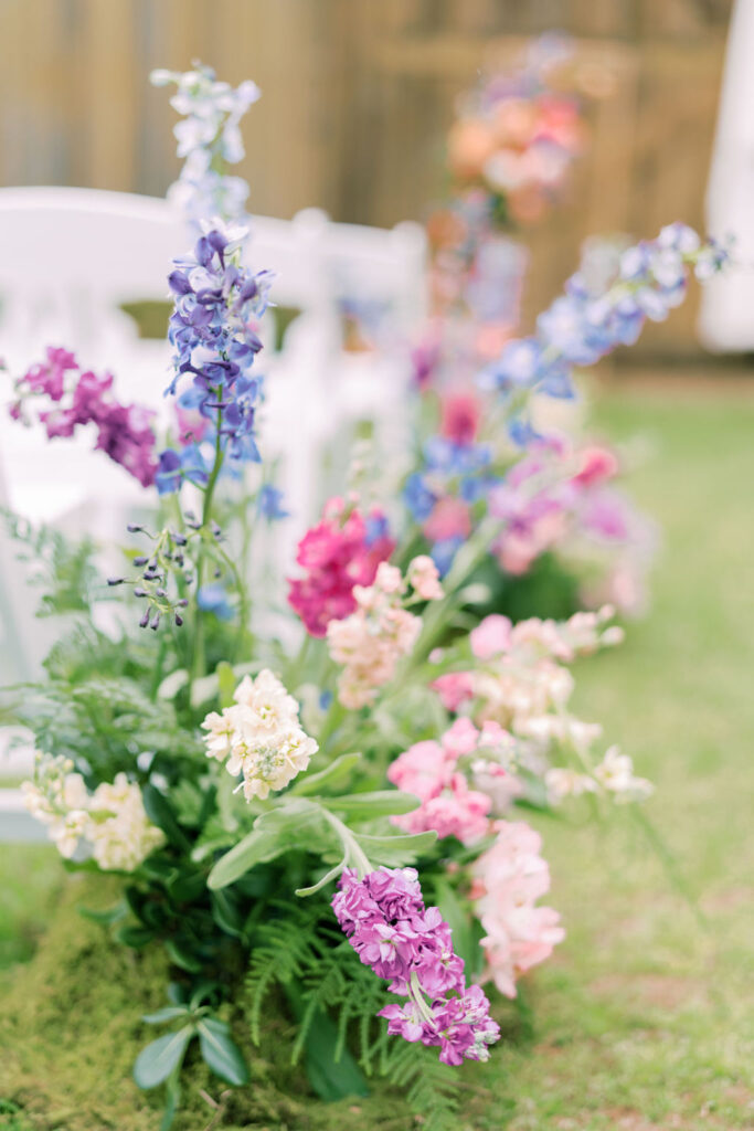
[[[607, 434], [651, 440], [632, 487], [665, 546], [651, 615], [581, 665], [575, 706], [657, 783], [647, 815], [697, 910], [629, 815], [609, 828], [541, 821], [569, 936], [525, 987], [530, 1025], [503, 1005], [512, 1039], [463, 1070], [458, 1126], [753, 1128], [754, 390], [629, 387], [596, 407]], [[106, 883], [63, 881], [43, 847], [6, 849], [0, 867], [0, 1128], [157, 1129], [130, 1067], [154, 1036], [139, 1018], [163, 1003], [159, 961], [78, 915], [109, 903]], [[222, 1098], [197, 1064], [176, 1131], [419, 1125], [391, 1096], [313, 1100], [287, 1067], [283, 1021], [265, 1055], [236, 1035], [252, 1086]]]

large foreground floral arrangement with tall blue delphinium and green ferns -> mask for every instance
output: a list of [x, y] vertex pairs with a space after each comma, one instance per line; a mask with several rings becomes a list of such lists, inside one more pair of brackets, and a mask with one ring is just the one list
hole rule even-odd
[[[392, 500], [364, 486], [330, 499], [291, 567], [292, 648], [289, 632], [254, 628], [266, 597], [244, 564], [257, 526], [285, 516], [260, 423], [257, 330], [274, 282], [248, 266], [241, 195], [222, 180], [222, 156], [239, 147], [218, 140], [234, 137], [252, 88], [233, 92], [207, 69], [167, 78], [188, 114], [191, 218], [213, 202], [168, 277], [179, 438], [158, 442], [112, 378], [64, 351], [16, 382], [16, 417], [46, 397], [50, 435], [94, 425], [97, 447], [150, 494], [122, 573], [99, 585], [87, 559], [78, 586], [49, 595], [62, 612], [75, 592], [77, 628], [67, 623], [42, 683], [6, 689], [3, 718], [35, 735], [27, 803], [68, 866], [120, 877], [106, 922], [125, 946], [166, 950], [168, 1003], [145, 1021], [170, 1030], [135, 1065], [141, 1088], [165, 1087], [163, 1126], [192, 1041], [222, 1080], [248, 1082], [243, 1045], [265, 1038], [270, 998], [295, 1022], [292, 1059], [321, 1096], [358, 1094], [381, 1073], [440, 1126], [457, 1110], [453, 1073], [500, 1038], [485, 987], [514, 999], [563, 938], [539, 904], [549, 872], [523, 817], [609, 812], [651, 792], [569, 709], [573, 662], [622, 639], [613, 610], [513, 623], [469, 612], [469, 586], [491, 550], [514, 552], [522, 484], [532, 507], [541, 491], [567, 495], [567, 513], [609, 478], [609, 457], [581, 451], [566, 484], [580, 486], [551, 487], [554, 449], [529, 417], [532, 394], [570, 392], [571, 365], [635, 337], [679, 301], [691, 269], [712, 271], [725, 254], [673, 225], [626, 252], [604, 293], [574, 277], [537, 335], [506, 346], [484, 373], [499, 408], [491, 431], [522, 458], [503, 466], [454, 413], [432, 475], [407, 487], [425, 523], [443, 501], [463, 508], [462, 527], [432, 539], [434, 559], [411, 524], [391, 524]], [[101, 439], [111, 417], [119, 443]], [[136, 613], [104, 631], [97, 607], [123, 593]]]

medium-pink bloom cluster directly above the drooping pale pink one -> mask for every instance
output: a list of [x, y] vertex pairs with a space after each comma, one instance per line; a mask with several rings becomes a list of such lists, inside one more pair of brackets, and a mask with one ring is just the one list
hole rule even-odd
[[434, 829], [465, 845], [480, 840], [491, 814], [504, 812], [521, 792], [511, 772], [515, 745], [497, 723], [478, 731], [468, 718], [456, 719], [439, 742], [415, 743], [390, 766], [388, 778], [422, 804], [393, 822], [407, 832]]

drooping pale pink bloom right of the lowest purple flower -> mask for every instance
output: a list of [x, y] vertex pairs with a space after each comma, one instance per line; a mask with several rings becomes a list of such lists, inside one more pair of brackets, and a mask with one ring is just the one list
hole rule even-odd
[[515, 998], [517, 978], [549, 958], [565, 932], [552, 907], [537, 907], [549, 890], [541, 837], [525, 821], [499, 821], [497, 838], [474, 865], [471, 898], [485, 938], [487, 977]]

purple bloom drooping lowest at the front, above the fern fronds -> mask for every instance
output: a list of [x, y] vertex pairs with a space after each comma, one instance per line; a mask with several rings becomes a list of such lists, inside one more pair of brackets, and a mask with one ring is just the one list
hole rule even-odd
[[444, 1064], [487, 1060], [500, 1036], [479, 986], [467, 987], [463, 960], [437, 907], [425, 907], [416, 870], [380, 867], [359, 879], [346, 869], [332, 909], [362, 962], [407, 998], [380, 1011], [388, 1033], [440, 1047]]

